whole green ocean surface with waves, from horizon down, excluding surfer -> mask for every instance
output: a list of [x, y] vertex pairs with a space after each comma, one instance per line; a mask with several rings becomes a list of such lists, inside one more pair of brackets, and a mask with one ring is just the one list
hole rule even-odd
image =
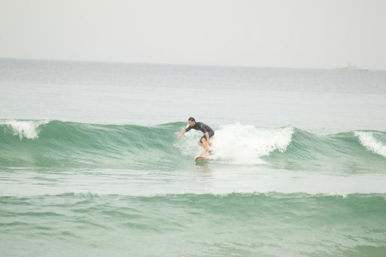
[[0, 59], [1, 256], [385, 254], [386, 71]]

